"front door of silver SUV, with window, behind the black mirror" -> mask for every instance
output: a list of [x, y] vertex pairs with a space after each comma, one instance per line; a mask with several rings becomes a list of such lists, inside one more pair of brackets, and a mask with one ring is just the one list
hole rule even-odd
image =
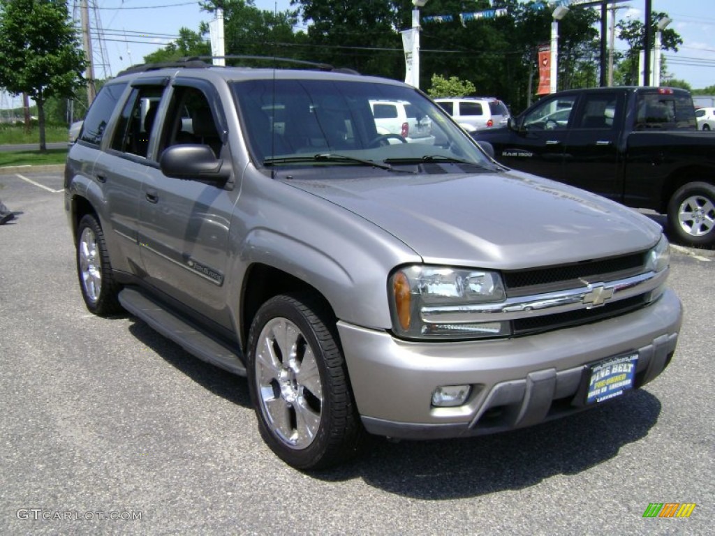
[[239, 189], [199, 179], [165, 176], [157, 157], [174, 144], [203, 144], [217, 157], [226, 119], [213, 86], [198, 79], [174, 81], [149, 142], [152, 172], [139, 199], [139, 240], [145, 281], [189, 309], [230, 327], [225, 278], [231, 215]]

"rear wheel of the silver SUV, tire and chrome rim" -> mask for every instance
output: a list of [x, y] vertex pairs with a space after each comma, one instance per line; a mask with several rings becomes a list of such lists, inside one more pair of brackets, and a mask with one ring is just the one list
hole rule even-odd
[[77, 227], [77, 276], [84, 304], [90, 312], [104, 317], [122, 310], [104, 233], [92, 214], [84, 215]]

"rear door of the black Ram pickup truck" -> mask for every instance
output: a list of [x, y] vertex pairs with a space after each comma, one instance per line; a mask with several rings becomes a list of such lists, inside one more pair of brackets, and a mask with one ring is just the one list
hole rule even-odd
[[618, 133], [625, 101], [623, 91], [593, 91], [581, 97], [564, 145], [563, 182], [621, 199]]

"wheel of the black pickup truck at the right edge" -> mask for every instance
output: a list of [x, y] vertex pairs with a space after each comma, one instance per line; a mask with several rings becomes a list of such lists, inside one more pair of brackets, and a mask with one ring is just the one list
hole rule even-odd
[[679, 188], [668, 205], [668, 220], [682, 242], [715, 244], [715, 187], [707, 182], [690, 182]]

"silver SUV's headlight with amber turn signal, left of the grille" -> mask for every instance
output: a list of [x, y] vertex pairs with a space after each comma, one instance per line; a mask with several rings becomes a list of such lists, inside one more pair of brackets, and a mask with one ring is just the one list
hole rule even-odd
[[503, 302], [506, 292], [497, 272], [413, 265], [390, 277], [390, 309], [395, 333], [408, 338], [474, 339], [503, 337], [509, 322], [440, 321], [440, 308]]

